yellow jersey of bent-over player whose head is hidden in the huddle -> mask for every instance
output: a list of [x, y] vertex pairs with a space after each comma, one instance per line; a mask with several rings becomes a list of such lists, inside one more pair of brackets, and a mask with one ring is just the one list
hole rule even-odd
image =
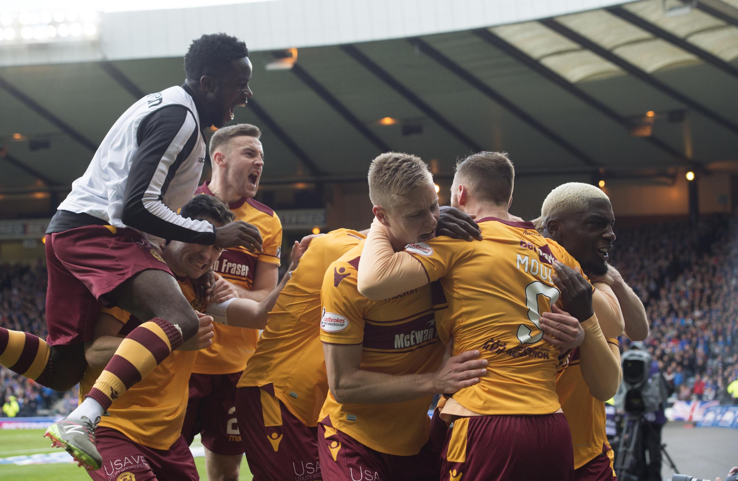
[[320, 287], [334, 260], [366, 236], [337, 229], [313, 239], [277, 297], [238, 387], [265, 387], [306, 426], [317, 426], [328, 392], [320, 343]]

